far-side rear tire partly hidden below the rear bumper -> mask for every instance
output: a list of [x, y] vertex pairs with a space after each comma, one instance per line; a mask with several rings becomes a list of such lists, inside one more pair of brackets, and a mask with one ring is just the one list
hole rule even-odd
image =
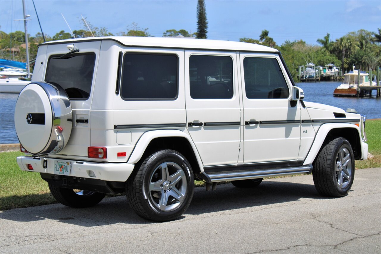
[[61, 204], [74, 208], [85, 208], [95, 206], [102, 201], [106, 194], [83, 190], [75, 192], [73, 189], [61, 188], [48, 184], [51, 195]]

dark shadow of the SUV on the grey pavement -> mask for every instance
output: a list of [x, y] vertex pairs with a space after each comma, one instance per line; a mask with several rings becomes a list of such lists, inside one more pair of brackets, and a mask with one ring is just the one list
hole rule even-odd
[[[314, 185], [290, 182], [263, 181], [253, 189], [240, 189], [232, 184], [217, 185], [214, 191], [204, 187], [195, 188], [191, 205], [178, 220], [187, 215], [261, 207], [268, 204], [297, 201], [301, 198], [326, 199], [320, 196]], [[112, 224], [151, 224], [137, 216], [125, 196], [105, 198], [91, 208], [70, 208], [62, 204], [50, 204], [30, 208], [5, 210], [0, 218], [18, 222], [54, 220], [82, 227], [96, 227]]]

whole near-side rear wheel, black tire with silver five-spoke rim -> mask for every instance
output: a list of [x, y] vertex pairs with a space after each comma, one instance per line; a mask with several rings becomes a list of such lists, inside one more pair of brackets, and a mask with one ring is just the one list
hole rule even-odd
[[140, 217], [154, 221], [180, 217], [191, 203], [193, 190], [191, 165], [174, 150], [149, 155], [126, 183], [126, 196], [131, 207]]

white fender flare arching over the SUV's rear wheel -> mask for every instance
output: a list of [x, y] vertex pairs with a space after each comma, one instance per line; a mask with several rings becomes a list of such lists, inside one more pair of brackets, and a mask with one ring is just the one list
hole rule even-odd
[[[199, 155], [199, 152], [197, 151], [191, 137], [184, 133], [183, 131], [179, 131], [177, 129], [164, 129], [164, 130], [157, 130], [157, 131], [147, 131], [144, 133], [139, 141], [136, 143], [135, 148], [133, 152], [131, 153], [130, 158], [128, 158], [127, 163], [135, 164], [137, 163], [141, 157], [143, 156], [144, 151], [146, 150], [146, 147], [149, 145], [149, 143], [158, 137], [184, 137], [188, 140], [189, 144], [191, 144], [191, 147], [193, 149], [193, 152], [195, 154], [195, 157], [197, 159], [197, 163], [199, 163], [199, 167], [201, 171], [203, 172], [203, 165], [202, 161]], [[197, 172], [195, 172], [197, 173]]]

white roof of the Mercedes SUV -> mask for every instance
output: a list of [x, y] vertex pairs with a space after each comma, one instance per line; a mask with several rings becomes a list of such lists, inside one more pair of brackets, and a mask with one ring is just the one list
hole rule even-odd
[[278, 52], [275, 48], [263, 45], [231, 42], [222, 40], [202, 40], [187, 38], [168, 38], [168, 37], [129, 37], [129, 36], [110, 36], [110, 37], [87, 37], [70, 40], [59, 40], [46, 42], [46, 44], [56, 43], [74, 43], [98, 40], [114, 40], [125, 46], [140, 47], [160, 47], [160, 48], [186, 48], [186, 49], [203, 49], [203, 50], [234, 50], [234, 51], [261, 51], [261, 52]]

